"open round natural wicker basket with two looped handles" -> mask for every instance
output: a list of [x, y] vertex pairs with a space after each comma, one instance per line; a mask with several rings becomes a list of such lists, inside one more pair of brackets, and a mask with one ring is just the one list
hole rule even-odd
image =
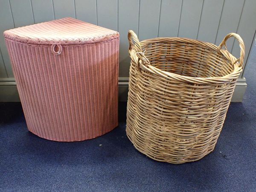
[[[239, 41], [239, 59], [222, 49], [230, 37]], [[128, 39], [126, 132], [135, 148], [169, 163], [195, 161], [209, 154], [242, 71], [241, 37], [230, 33], [218, 47], [188, 38], [140, 42], [133, 31]]]

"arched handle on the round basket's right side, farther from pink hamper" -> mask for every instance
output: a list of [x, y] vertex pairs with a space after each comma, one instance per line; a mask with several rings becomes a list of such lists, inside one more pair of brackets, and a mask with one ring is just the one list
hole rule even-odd
[[[228, 54], [230, 54], [230, 52], [227, 51], [227, 44], [226, 44], [226, 41], [228, 40], [228, 38], [230, 37], [234, 37], [238, 42], [239, 42], [239, 47], [241, 49], [240, 51], [240, 58], [236, 59], [236, 61], [233, 63], [235, 64], [236, 62], [239, 61], [239, 66], [243, 67], [243, 64], [244, 64], [244, 51], [245, 51], [245, 48], [244, 48], [244, 41], [242, 40], [242, 38], [240, 37], [240, 35], [236, 34], [236, 33], [229, 33], [226, 35], [226, 37], [223, 39], [223, 41], [221, 41], [221, 44], [217, 47], [217, 52], [219, 54], [223, 54], [224, 56], [226, 56], [227, 58], [230, 58]], [[227, 52], [223, 52], [221, 51], [220, 49], [222, 47], [225, 47], [226, 51]], [[231, 55], [231, 54], [230, 54]]]

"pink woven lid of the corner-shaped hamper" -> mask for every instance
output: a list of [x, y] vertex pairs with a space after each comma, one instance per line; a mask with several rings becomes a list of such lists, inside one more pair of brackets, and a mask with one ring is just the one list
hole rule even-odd
[[41, 45], [87, 44], [119, 37], [116, 31], [71, 17], [10, 29], [3, 34], [15, 41]]

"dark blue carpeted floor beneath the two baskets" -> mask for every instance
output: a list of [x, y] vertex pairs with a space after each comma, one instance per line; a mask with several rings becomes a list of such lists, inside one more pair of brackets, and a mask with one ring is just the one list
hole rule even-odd
[[0, 191], [256, 191], [256, 48], [243, 103], [231, 103], [215, 150], [180, 165], [138, 152], [119, 127], [93, 140], [59, 143], [26, 129], [20, 103], [0, 103]]

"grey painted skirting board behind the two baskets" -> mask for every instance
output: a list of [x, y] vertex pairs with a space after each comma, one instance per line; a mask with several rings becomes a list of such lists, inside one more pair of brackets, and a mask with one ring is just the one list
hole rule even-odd
[[[119, 102], [125, 102], [128, 96], [128, 78], [120, 77], [118, 85]], [[246, 79], [238, 79], [231, 102], [242, 102], [246, 87]], [[14, 78], [0, 79], [0, 102], [20, 102]]]

